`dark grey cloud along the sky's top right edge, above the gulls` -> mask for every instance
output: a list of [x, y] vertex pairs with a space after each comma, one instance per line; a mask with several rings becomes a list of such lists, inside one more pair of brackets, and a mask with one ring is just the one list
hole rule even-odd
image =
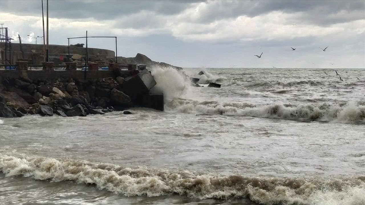
[[219, 19], [254, 17], [272, 11], [303, 12], [293, 22], [328, 25], [364, 19], [365, 1], [211, 1], [199, 10], [192, 21], [210, 23]]

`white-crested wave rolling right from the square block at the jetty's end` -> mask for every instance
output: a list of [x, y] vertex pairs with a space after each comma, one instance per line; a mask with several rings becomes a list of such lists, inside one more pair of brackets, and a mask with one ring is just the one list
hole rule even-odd
[[219, 114], [333, 123], [365, 123], [365, 105], [358, 102], [338, 104], [269, 104], [220, 103], [176, 98], [166, 104], [166, 111], [192, 114]]

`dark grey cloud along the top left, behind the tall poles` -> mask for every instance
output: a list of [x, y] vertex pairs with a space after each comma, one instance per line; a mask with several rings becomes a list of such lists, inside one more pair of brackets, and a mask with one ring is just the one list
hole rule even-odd
[[[1, 12], [16, 15], [42, 15], [41, 0], [1, 0]], [[95, 18], [97, 20], [115, 19], [118, 16], [138, 13], [140, 11], [154, 11], [161, 15], [173, 15], [188, 8], [196, 0], [50, 0], [49, 13], [52, 18]], [[46, 0], [43, 0], [46, 8]]]

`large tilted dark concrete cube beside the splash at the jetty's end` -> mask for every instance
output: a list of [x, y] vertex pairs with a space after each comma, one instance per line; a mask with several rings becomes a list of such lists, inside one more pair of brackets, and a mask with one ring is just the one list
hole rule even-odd
[[156, 81], [153, 76], [145, 69], [135, 76], [126, 78], [126, 81], [122, 84], [122, 89], [132, 100], [136, 100], [155, 85]]

